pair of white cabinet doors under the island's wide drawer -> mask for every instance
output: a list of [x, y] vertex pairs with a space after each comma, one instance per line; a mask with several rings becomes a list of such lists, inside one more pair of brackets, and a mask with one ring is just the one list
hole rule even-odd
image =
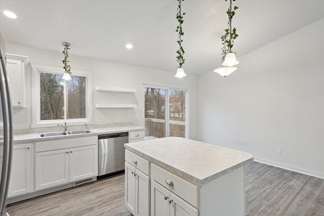
[[151, 180], [151, 216], [198, 216], [198, 210]]

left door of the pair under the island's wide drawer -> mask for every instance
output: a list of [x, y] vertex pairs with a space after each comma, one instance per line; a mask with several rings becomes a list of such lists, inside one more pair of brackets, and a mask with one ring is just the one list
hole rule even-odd
[[170, 215], [170, 192], [151, 180], [151, 216]]

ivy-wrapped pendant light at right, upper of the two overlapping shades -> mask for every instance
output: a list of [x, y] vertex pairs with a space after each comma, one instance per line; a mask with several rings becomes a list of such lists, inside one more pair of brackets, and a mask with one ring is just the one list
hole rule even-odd
[[[225, 0], [226, 1], [226, 0]], [[233, 0], [235, 1], [235, 0]], [[234, 10], [236, 10], [237, 7], [234, 7]], [[233, 28], [233, 32], [232, 32], [232, 18], [235, 14], [235, 11], [232, 11], [232, 0], [229, 0], [229, 8], [227, 10], [227, 15], [228, 15], [228, 29], [226, 29], [226, 33], [229, 36], [229, 39], [226, 40], [227, 43], [227, 47], [229, 49], [229, 52], [227, 52], [227, 55], [225, 57], [224, 62], [222, 63], [223, 66], [233, 66], [233, 65], [237, 65], [238, 61], [236, 60], [235, 54], [232, 52], [232, 47], [234, 44], [234, 39], [238, 36], [236, 34], [236, 29]]]

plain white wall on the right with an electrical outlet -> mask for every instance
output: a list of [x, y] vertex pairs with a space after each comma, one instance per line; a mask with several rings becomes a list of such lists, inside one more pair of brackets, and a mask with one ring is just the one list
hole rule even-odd
[[198, 140], [324, 178], [323, 38], [320, 19], [198, 77]]

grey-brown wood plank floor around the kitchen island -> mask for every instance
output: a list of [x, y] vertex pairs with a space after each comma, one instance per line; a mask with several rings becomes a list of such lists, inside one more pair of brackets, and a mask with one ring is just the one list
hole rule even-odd
[[[124, 178], [118, 175], [13, 203], [7, 211], [10, 216], [130, 216]], [[253, 162], [246, 167], [246, 214], [323, 216], [324, 180]]]

